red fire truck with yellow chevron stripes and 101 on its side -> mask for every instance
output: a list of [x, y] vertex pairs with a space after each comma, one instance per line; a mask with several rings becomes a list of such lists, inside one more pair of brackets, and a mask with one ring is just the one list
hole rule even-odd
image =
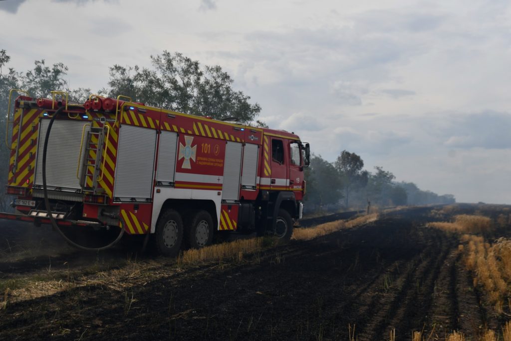
[[108, 246], [124, 233], [147, 235], [155, 252], [173, 256], [223, 231], [289, 239], [303, 212], [310, 152], [294, 133], [125, 96], [72, 103], [64, 92], [32, 98], [17, 89], [7, 121], [15, 213], [0, 218], [52, 224], [61, 234], [119, 230]]

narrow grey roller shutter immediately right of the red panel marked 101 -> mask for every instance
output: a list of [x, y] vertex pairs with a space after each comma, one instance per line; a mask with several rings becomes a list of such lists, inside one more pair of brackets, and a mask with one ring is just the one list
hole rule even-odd
[[240, 195], [241, 143], [227, 142], [223, 176], [222, 200], [237, 201]]

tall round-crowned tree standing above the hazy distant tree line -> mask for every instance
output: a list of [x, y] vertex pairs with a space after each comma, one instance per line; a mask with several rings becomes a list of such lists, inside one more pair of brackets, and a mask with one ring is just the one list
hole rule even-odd
[[369, 173], [362, 170], [364, 162], [362, 158], [349, 151], [343, 150], [335, 161], [335, 168], [339, 172], [344, 184], [344, 204], [349, 207], [350, 194], [352, 191], [367, 186]]

